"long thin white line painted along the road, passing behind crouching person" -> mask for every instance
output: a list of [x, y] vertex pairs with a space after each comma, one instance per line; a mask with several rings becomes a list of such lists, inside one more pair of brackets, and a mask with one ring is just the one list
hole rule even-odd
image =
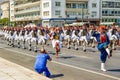
[[[19, 52], [19, 51], [14, 51], [14, 50], [11, 50], [11, 49], [6, 49], [6, 48], [3, 48], [3, 49], [8, 50], [8, 51], [12, 51], [12, 52], [17, 52], [17, 53], [20, 53], [20, 54], [27, 55], [27, 56], [30, 56], [30, 57], [35, 58], [35, 56], [33, 56], [33, 55], [25, 54], [25, 53], [22, 53], [22, 52]], [[115, 76], [111, 76], [111, 75], [107, 75], [107, 74], [103, 74], [103, 73], [95, 72], [95, 71], [92, 71], [92, 70], [87, 70], [87, 69], [84, 69], [84, 68], [80, 68], [80, 67], [76, 67], [76, 66], [72, 66], [72, 65], [68, 65], [68, 64], [60, 63], [60, 62], [57, 62], [57, 61], [52, 61], [52, 62], [53, 62], [53, 63], [56, 63], [56, 64], [60, 64], [60, 65], [64, 65], [64, 66], [68, 66], [68, 67], [72, 67], [72, 68], [75, 68], [75, 69], [83, 70], [83, 71], [86, 71], [86, 72], [89, 72], [89, 73], [93, 73], [93, 74], [97, 74], [97, 75], [105, 76], [105, 77], [108, 77], [108, 78], [112, 78], [112, 79], [120, 80], [119, 77], [115, 77]]]

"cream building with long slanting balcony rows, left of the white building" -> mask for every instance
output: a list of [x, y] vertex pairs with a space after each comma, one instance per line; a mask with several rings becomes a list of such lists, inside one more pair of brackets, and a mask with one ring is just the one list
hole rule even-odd
[[26, 25], [41, 22], [40, 0], [10, 0], [10, 20]]

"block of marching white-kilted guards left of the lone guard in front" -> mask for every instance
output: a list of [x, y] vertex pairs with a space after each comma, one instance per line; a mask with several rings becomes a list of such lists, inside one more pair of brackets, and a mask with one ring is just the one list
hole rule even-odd
[[47, 37], [43, 36], [43, 31], [41, 28], [38, 30], [37, 27], [28, 27], [28, 28], [5, 28], [1, 29], [0, 34], [4, 37], [4, 40], [7, 40], [7, 44], [14, 47], [15, 42], [17, 43], [17, 47], [26, 49], [26, 44], [28, 50], [32, 50], [32, 46], [34, 47], [34, 51], [37, 52], [38, 43], [46, 43]]

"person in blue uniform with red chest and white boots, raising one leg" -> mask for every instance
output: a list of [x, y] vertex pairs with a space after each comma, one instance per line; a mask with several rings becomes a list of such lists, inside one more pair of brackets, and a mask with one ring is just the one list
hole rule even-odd
[[100, 26], [100, 32], [94, 31], [92, 36], [96, 37], [98, 43], [98, 50], [100, 51], [100, 60], [101, 60], [101, 70], [107, 71], [105, 69], [105, 62], [107, 57], [110, 58], [110, 50], [108, 49], [108, 45], [110, 40], [105, 30], [105, 26]]

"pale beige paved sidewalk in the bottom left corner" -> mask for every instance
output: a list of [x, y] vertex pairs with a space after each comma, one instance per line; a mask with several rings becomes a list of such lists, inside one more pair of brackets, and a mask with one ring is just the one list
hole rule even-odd
[[0, 80], [51, 80], [0, 57]]

